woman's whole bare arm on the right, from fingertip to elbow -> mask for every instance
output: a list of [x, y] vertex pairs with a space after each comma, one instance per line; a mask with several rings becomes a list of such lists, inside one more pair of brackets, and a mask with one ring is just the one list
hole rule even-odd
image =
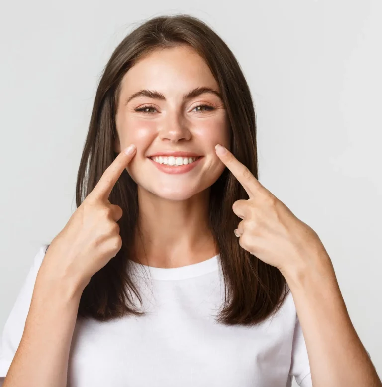
[[233, 203], [240, 246], [284, 275], [296, 306], [313, 387], [382, 387], [350, 320], [331, 259], [316, 232], [268, 191], [231, 152], [221, 161], [247, 192]]

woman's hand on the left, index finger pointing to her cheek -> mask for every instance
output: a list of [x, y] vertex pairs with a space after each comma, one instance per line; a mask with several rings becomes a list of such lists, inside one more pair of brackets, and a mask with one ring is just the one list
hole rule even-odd
[[136, 148], [133, 145], [130, 154], [125, 151], [120, 152], [107, 167], [93, 191], [52, 240], [39, 275], [47, 275], [53, 280], [73, 280], [83, 290], [91, 277], [121, 249], [117, 221], [122, 217], [122, 208], [111, 204], [108, 197], [134, 157]]

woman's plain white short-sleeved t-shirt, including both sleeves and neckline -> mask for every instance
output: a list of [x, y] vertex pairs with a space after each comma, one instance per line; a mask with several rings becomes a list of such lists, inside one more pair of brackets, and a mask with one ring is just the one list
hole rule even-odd
[[[47, 246], [36, 254], [5, 323], [0, 378], [20, 343]], [[292, 376], [312, 386], [291, 292], [273, 318], [256, 327], [228, 327], [214, 318], [224, 295], [218, 256], [170, 269], [132, 264], [146, 315], [78, 320], [68, 387], [290, 387]]]

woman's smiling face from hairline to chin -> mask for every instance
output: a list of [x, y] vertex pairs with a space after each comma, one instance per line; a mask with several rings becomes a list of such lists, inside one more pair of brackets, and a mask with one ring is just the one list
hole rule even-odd
[[[229, 149], [223, 101], [208, 92], [184, 99], [185, 94], [201, 87], [220, 93], [204, 60], [184, 46], [156, 50], [125, 74], [116, 114], [119, 139], [115, 150], [136, 145], [137, 152], [126, 169], [140, 189], [170, 200], [186, 200], [210, 187], [223, 172], [225, 166], [214, 148], [219, 143]], [[162, 97], [142, 94], [129, 100], [141, 90]], [[201, 104], [207, 107], [197, 107]], [[175, 159], [162, 157], [157, 159], [159, 164], [150, 159], [166, 152], [175, 152]], [[186, 156], [177, 152], [201, 157], [194, 165], [166, 165], [185, 161]], [[179, 173], [172, 173], [176, 170]]]

